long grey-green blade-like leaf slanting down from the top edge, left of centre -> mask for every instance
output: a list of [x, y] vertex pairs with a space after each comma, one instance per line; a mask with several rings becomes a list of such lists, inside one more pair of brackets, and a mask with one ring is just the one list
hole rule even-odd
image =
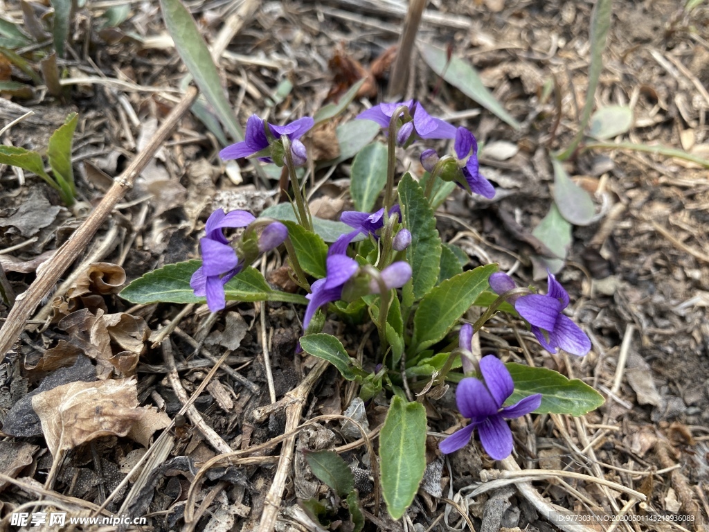
[[243, 140], [244, 133], [236, 121], [231, 104], [224, 95], [219, 73], [194, 18], [180, 0], [160, 0], [160, 9], [177, 53], [194, 77], [197, 87], [213, 106], [230, 135], [235, 140]]

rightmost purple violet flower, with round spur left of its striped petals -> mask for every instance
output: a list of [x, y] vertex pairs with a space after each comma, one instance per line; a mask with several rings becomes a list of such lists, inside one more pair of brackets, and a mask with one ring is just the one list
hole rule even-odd
[[[497, 294], [516, 287], [511, 277], [501, 272], [491, 275], [489, 282]], [[549, 272], [547, 282], [547, 295], [516, 296], [510, 298], [510, 303], [514, 304], [518, 314], [530, 323], [532, 333], [542, 348], [549, 353], [556, 353], [557, 348], [561, 348], [566, 353], [582, 357], [591, 350], [591, 340], [571, 318], [563, 314], [562, 311], [569, 305], [569, 294], [552, 272]]]

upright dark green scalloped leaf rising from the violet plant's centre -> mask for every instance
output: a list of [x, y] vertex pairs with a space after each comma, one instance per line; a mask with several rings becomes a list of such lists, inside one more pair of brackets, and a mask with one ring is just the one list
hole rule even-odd
[[411, 231], [406, 259], [413, 270], [413, 295], [415, 299], [421, 299], [438, 282], [441, 239], [433, 209], [408, 172], [398, 184], [398, 196], [404, 226]]

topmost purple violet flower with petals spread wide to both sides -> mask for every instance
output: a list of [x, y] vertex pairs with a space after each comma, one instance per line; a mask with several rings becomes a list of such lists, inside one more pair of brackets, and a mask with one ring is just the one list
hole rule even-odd
[[418, 138], [454, 138], [455, 127], [450, 123], [442, 121], [440, 118], [430, 116], [421, 105], [420, 101], [408, 100], [400, 101], [396, 104], [379, 104], [367, 111], [362, 111], [356, 118], [360, 120], [372, 120], [379, 124], [384, 129], [389, 128], [391, 116], [396, 109], [401, 106], [407, 106], [413, 121], [404, 123], [396, 135], [398, 144], [405, 144], [412, 133], [418, 135]]

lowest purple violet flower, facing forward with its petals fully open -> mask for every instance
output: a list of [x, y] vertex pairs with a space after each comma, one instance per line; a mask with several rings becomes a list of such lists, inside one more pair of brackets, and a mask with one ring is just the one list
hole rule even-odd
[[518, 418], [538, 409], [542, 394], [530, 395], [503, 408], [514, 391], [510, 372], [494, 355], [480, 360], [480, 372], [482, 380], [466, 377], [455, 392], [458, 410], [470, 419], [470, 424], [445, 438], [438, 448], [445, 454], [464, 448], [477, 428], [486, 452], [495, 460], [503, 460], [512, 453], [513, 446], [512, 431], [505, 419]]

